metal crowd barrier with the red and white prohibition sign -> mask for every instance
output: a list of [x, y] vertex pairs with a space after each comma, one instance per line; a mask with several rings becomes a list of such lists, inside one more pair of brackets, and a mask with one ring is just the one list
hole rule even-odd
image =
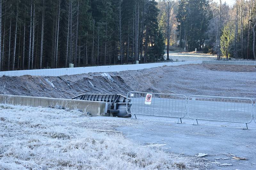
[[147, 92], [129, 92], [127, 98], [131, 99], [126, 103], [127, 113], [133, 115], [147, 115], [159, 117], [183, 118], [186, 115], [186, 96], [176, 94], [150, 93], [151, 104], [145, 104]]

